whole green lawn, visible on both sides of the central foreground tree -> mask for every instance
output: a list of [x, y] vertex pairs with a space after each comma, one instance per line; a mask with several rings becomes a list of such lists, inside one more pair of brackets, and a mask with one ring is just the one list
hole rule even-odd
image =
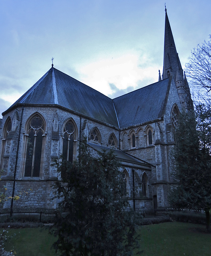
[[[200, 224], [165, 222], [139, 228], [141, 256], [210, 256], [211, 234]], [[51, 245], [55, 238], [44, 228], [10, 229], [16, 234], [6, 244], [17, 256], [56, 256]]]

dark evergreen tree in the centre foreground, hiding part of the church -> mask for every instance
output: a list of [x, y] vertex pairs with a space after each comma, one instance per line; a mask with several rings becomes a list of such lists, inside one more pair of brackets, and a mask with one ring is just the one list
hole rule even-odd
[[56, 182], [61, 212], [51, 232], [63, 256], [133, 255], [134, 216], [124, 194], [120, 163], [112, 151], [93, 157], [86, 140], [73, 164], [62, 161]]

